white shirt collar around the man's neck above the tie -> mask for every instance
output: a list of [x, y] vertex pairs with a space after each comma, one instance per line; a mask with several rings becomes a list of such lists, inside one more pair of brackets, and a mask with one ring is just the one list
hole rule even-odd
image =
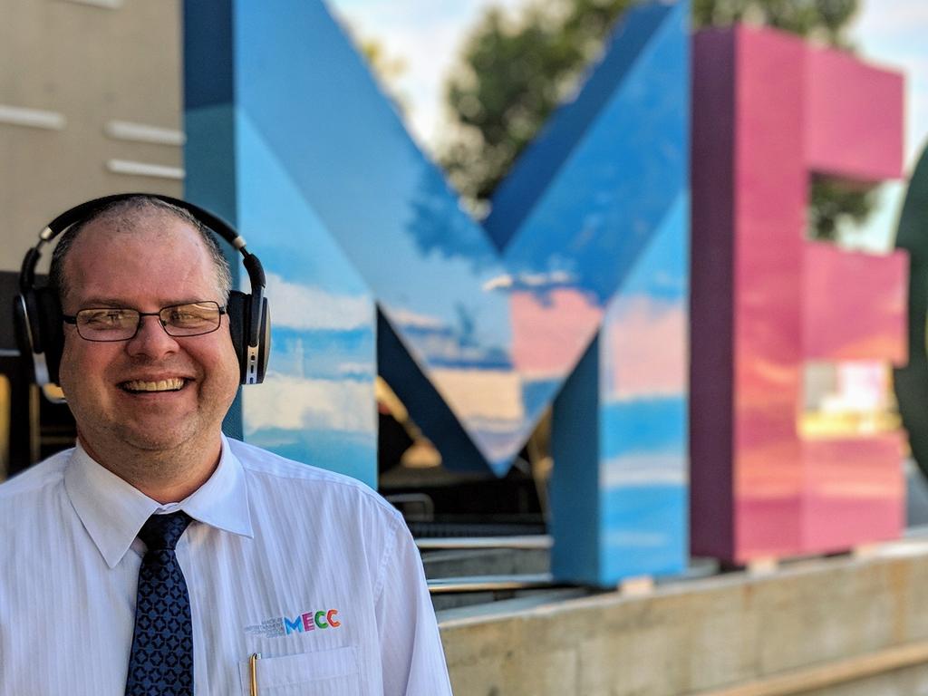
[[90, 457], [80, 443], [64, 472], [64, 486], [84, 528], [110, 568], [116, 566], [148, 518], [182, 509], [194, 520], [252, 537], [248, 487], [241, 462], [222, 436], [213, 475], [180, 503], [161, 505]]

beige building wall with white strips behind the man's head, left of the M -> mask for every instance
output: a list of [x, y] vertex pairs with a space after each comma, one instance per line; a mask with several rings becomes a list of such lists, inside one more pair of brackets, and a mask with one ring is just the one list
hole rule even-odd
[[181, 3], [0, 0], [0, 270], [83, 200], [182, 194]]

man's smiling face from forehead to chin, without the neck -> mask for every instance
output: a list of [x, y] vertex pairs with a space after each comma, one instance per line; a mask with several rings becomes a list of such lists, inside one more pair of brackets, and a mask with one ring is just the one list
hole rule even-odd
[[[179, 303], [225, 303], [213, 262], [187, 223], [143, 213], [132, 230], [112, 227], [97, 220], [75, 240], [64, 266], [66, 315], [91, 307], [157, 312]], [[143, 317], [129, 341], [89, 342], [71, 325], [64, 330], [61, 388], [92, 454], [218, 441], [238, 389], [226, 316], [219, 330], [184, 338], [168, 336], [157, 316]], [[158, 391], [148, 391], [152, 385]]]

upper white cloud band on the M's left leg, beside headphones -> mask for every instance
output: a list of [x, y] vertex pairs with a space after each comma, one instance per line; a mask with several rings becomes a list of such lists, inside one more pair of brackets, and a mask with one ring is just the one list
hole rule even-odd
[[267, 274], [271, 324], [288, 329], [348, 331], [370, 326], [374, 304], [364, 296], [334, 295]]

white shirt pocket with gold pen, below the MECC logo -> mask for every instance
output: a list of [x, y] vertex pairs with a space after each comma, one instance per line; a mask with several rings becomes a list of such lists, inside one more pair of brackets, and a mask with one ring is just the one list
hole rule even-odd
[[[251, 660], [238, 663], [242, 693], [251, 694]], [[354, 646], [328, 651], [263, 657], [256, 663], [258, 696], [359, 696]]]

